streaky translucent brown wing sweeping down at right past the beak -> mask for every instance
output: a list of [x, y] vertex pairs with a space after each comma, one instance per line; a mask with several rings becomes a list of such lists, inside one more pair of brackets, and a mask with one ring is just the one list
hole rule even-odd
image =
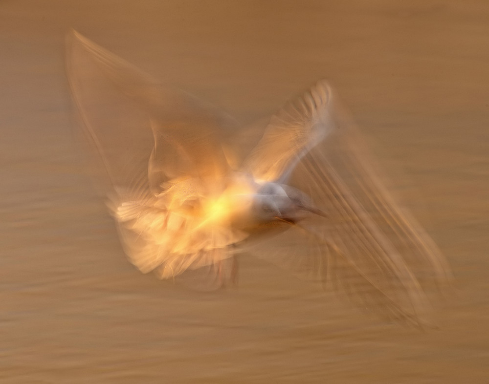
[[334, 128], [317, 128], [328, 136], [301, 158], [289, 180], [326, 218], [310, 217], [300, 224], [307, 232], [291, 228], [257, 254], [302, 276], [328, 279], [378, 313], [421, 325], [430, 312], [428, 288], [449, 279], [445, 258], [394, 200], [355, 126], [336, 98], [330, 100]]

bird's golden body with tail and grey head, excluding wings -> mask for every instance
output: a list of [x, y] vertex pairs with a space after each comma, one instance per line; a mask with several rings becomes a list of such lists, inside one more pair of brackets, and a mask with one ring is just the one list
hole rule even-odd
[[137, 255], [133, 263], [141, 271], [167, 260], [159, 268], [162, 278], [175, 277], [188, 262], [207, 256], [212, 258], [204, 263], [232, 257], [230, 246], [257, 234], [285, 231], [314, 210], [304, 192], [237, 171], [220, 180], [180, 177], [161, 190], [156, 196], [119, 201], [113, 216], [121, 226], [147, 237], [145, 247], [129, 252]]

